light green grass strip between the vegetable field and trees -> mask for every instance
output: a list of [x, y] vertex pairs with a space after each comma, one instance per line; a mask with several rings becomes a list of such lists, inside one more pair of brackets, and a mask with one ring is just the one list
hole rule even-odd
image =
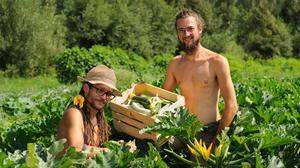
[[[253, 60], [245, 61], [237, 54], [225, 53], [227, 57], [231, 74], [235, 76], [238, 82], [246, 81], [248, 78], [274, 77], [274, 78], [291, 78], [300, 77], [300, 60], [295, 58], [273, 58], [269, 60]], [[155, 80], [162, 78], [165, 72], [157, 72], [161, 70], [151, 69], [142, 73], [139, 77], [135, 72], [116, 69], [117, 87], [124, 91], [130, 87], [131, 83], [137, 83], [144, 80], [147, 83], [152, 83]], [[237, 81], [234, 81], [237, 82]], [[55, 75], [38, 76], [34, 78], [4, 77], [0, 73], [0, 93], [19, 93], [19, 92], [38, 92], [51, 89], [60, 84]]]

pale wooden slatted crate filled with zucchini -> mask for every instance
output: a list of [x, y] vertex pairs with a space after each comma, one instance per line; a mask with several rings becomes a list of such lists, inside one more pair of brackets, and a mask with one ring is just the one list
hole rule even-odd
[[[135, 94], [146, 94], [150, 96], [158, 95], [160, 98], [176, 102], [180, 97], [175, 93], [169, 92], [167, 90], [146, 84], [141, 83], [135, 86]], [[157, 141], [158, 135], [156, 134], [139, 134], [139, 131], [142, 128], [145, 128], [148, 125], [151, 125], [155, 121], [155, 116], [148, 116], [146, 114], [137, 112], [126, 105], [115, 103], [112, 101], [110, 103], [112, 110], [112, 116], [114, 121], [114, 127], [120, 132], [124, 132], [128, 135], [136, 137], [138, 139], [152, 139], [157, 145], [164, 143], [164, 140]]]

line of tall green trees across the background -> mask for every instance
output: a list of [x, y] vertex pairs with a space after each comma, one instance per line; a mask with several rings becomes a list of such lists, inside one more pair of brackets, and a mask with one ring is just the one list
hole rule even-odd
[[0, 0], [0, 69], [48, 73], [75, 46], [122, 48], [145, 59], [177, 54], [182, 8], [204, 18], [202, 44], [213, 51], [300, 58], [299, 0]]

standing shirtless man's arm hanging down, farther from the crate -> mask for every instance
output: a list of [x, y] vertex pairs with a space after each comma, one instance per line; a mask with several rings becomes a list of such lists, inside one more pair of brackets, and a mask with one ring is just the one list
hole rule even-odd
[[238, 110], [236, 94], [231, 80], [229, 64], [226, 58], [216, 57], [215, 71], [220, 87], [221, 95], [225, 102], [222, 118], [219, 123], [217, 133], [220, 133], [225, 127], [229, 127]]

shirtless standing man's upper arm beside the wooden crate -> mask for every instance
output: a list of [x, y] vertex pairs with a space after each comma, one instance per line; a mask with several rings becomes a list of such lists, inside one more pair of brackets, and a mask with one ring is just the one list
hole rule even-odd
[[177, 84], [176, 79], [173, 75], [174, 68], [175, 68], [174, 62], [175, 62], [175, 60], [172, 60], [168, 65], [166, 79], [165, 79], [165, 82], [163, 85], [163, 89], [171, 91], [171, 92], [175, 89], [176, 84]]

